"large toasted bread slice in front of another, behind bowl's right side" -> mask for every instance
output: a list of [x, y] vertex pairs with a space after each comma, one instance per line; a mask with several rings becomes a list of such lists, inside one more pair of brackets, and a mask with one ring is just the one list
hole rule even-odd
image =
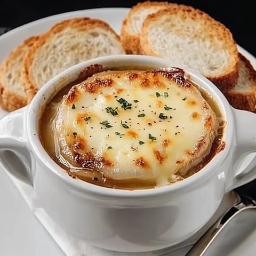
[[143, 54], [178, 61], [218, 85], [232, 89], [238, 78], [238, 51], [230, 31], [191, 6], [160, 10], [143, 22]]

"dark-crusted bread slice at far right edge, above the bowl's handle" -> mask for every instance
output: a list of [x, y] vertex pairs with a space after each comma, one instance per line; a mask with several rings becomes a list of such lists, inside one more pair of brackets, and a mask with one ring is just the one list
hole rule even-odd
[[256, 110], [256, 70], [249, 60], [239, 54], [239, 77], [236, 86], [226, 92], [229, 103], [238, 109]]

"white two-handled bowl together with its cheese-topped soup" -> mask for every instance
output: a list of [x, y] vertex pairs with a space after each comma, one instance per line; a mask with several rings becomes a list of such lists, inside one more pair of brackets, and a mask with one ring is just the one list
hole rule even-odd
[[[96, 79], [107, 80], [97, 87]], [[47, 108], [51, 116], [51, 107], [49, 128], [43, 118]], [[0, 124], [6, 169], [33, 186], [43, 209], [69, 234], [109, 250], [153, 251], [184, 241], [212, 217], [227, 191], [256, 178], [255, 158], [237, 174], [244, 156], [256, 151], [255, 114], [230, 107], [193, 69], [154, 57], [116, 55], [79, 63]], [[52, 133], [44, 137], [47, 129]], [[204, 142], [193, 151], [197, 135]], [[55, 157], [58, 150], [62, 162]], [[26, 172], [7, 161], [8, 151]], [[93, 175], [79, 175], [85, 170]]]

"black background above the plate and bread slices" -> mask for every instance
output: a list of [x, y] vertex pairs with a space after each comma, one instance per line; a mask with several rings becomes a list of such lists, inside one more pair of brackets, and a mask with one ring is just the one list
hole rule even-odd
[[[99, 1], [99, 0], [0, 0], [0, 27], [18, 27], [24, 23], [61, 12], [96, 7], [131, 7], [143, 1]], [[170, 2], [170, 1], [169, 1]], [[192, 5], [209, 13], [225, 24], [233, 33], [236, 42], [256, 55], [254, 1], [219, 0], [174, 0], [175, 3]]]

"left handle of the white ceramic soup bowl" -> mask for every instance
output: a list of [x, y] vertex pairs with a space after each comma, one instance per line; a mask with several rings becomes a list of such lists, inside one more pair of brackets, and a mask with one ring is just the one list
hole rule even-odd
[[26, 109], [13, 111], [0, 119], [0, 162], [16, 178], [31, 185], [33, 162], [24, 132]]

